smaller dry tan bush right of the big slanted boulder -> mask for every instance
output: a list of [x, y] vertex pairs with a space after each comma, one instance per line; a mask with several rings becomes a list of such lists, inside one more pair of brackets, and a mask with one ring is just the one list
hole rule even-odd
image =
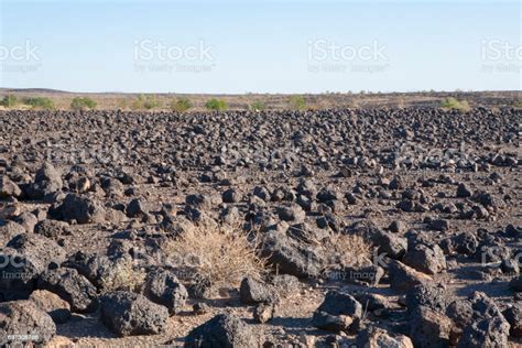
[[359, 235], [335, 233], [330, 237], [329, 248], [338, 255], [335, 262], [345, 267], [370, 265], [371, 244]]

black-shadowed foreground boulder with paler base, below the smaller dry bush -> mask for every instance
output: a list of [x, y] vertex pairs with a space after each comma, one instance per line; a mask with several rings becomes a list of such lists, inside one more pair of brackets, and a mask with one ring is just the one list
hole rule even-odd
[[329, 331], [347, 330], [362, 317], [362, 305], [350, 294], [329, 291], [314, 312], [312, 325]]

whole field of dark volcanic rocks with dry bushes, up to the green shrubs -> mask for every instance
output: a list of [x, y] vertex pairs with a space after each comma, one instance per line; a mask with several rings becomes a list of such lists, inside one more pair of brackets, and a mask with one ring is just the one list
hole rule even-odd
[[0, 346], [521, 346], [521, 116], [0, 111]]

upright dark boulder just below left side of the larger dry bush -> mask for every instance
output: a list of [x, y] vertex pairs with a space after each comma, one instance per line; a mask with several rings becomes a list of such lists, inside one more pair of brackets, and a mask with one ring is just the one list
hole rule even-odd
[[144, 295], [152, 302], [164, 305], [168, 313], [176, 314], [185, 305], [188, 293], [171, 271], [156, 270], [148, 274]]

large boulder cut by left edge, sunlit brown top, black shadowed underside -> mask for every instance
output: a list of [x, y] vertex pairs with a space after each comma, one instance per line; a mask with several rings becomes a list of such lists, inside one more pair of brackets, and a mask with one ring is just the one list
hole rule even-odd
[[0, 297], [25, 300], [50, 264], [65, 261], [65, 250], [44, 236], [22, 233], [8, 242], [0, 260]]

